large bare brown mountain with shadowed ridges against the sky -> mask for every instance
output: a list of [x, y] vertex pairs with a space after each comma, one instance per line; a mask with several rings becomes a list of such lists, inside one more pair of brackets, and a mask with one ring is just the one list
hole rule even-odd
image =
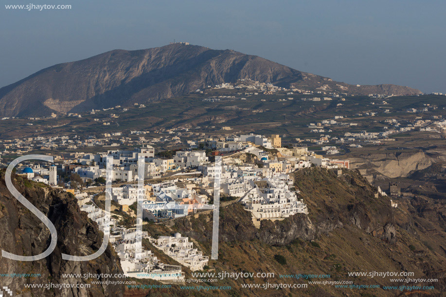
[[395, 85], [348, 85], [258, 56], [176, 43], [139, 51], [114, 50], [40, 70], [0, 89], [0, 116], [145, 103], [243, 78], [353, 95], [421, 94], [417, 89]]

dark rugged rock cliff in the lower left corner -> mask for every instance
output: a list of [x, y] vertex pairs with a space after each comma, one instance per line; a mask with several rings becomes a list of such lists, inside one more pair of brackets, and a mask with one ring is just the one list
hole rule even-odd
[[[23, 207], [7, 190], [4, 172], [0, 174], [0, 248], [10, 253], [32, 256], [45, 251], [50, 242], [47, 227], [28, 209]], [[86, 213], [80, 212], [75, 198], [65, 192], [52, 190], [48, 186], [36, 184], [18, 177], [13, 180], [18, 191], [38, 210], [43, 212], [57, 230], [57, 246], [45, 259], [21, 262], [0, 256], [0, 273], [40, 274], [40, 277], [7, 278], [3, 285], [20, 296], [120, 296], [123, 285], [97, 285], [91, 288], [25, 288], [25, 284], [88, 284], [96, 279], [63, 278], [62, 274], [120, 274], [119, 258], [111, 246], [99, 258], [88, 262], [62, 260], [61, 254], [89, 255], [102, 244], [102, 232], [96, 223], [89, 220]], [[104, 279], [102, 279], [104, 280]]]

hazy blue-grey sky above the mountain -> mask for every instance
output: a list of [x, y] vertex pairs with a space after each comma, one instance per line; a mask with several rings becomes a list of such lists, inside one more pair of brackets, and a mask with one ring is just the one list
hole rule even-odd
[[[350, 84], [446, 92], [446, 1], [2, 0], [0, 87], [57, 63], [177, 41]], [[4, 4], [71, 4], [7, 10]]]

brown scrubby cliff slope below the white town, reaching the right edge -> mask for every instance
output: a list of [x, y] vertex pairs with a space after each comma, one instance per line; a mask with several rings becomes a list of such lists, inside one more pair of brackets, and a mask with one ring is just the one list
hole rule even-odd
[[[410, 271], [416, 279], [435, 290], [426, 296], [441, 296], [446, 288], [445, 208], [432, 199], [398, 201], [375, 194], [356, 170], [333, 171], [305, 168], [294, 174], [295, 186], [308, 206], [308, 216], [296, 214], [283, 221], [261, 222], [254, 227], [250, 212], [238, 203], [220, 209], [218, 261], [210, 261], [210, 271], [273, 272], [296, 275], [330, 274], [331, 280], [351, 280], [355, 284], [395, 286], [386, 278], [350, 277], [352, 271]], [[401, 205], [400, 205], [401, 204]], [[146, 225], [152, 236], [180, 232], [189, 236], [205, 255], [211, 253], [212, 213], [175, 219], [168, 226]], [[286, 261], [278, 262], [277, 256]], [[278, 282], [286, 279], [278, 278]], [[227, 296], [295, 296], [284, 289], [248, 290], [243, 283], [273, 279], [219, 280], [213, 285], [230, 285]], [[303, 280], [293, 280], [305, 282]], [[406, 284], [407, 285], [407, 284]], [[401, 291], [368, 289], [367, 296], [400, 296]], [[413, 293], [413, 292], [411, 292]], [[424, 294], [425, 292], [423, 292]], [[357, 296], [357, 289], [311, 284], [299, 296]], [[161, 296], [161, 295], [160, 295]]]

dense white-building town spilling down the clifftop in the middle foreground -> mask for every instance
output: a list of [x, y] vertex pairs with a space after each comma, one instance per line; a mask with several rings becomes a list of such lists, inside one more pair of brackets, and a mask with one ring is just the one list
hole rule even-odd
[[[225, 140], [201, 142], [204, 149], [161, 151], [143, 144], [135, 150], [108, 150], [98, 154], [78, 153], [58, 159], [56, 164], [30, 161], [18, 167], [17, 174], [70, 192], [80, 210], [88, 213], [101, 230], [111, 227], [110, 243], [129, 277], [155, 280], [181, 280], [180, 266], [160, 262], [150, 250], [138, 246], [135, 224], [138, 201], [138, 159], [144, 160], [143, 221], [162, 223], [212, 209], [215, 178], [219, 178], [222, 201], [240, 203], [251, 213], [254, 226], [262, 220], [283, 220], [296, 213], [308, 214], [305, 201], [290, 174], [296, 170], [321, 167], [338, 172], [349, 161], [326, 158], [306, 147], [282, 147], [281, 137], [248, 134]], [[112, 157], [113, 210], [101, 207], [107, 178], [106, 160]], [[215, 157], [222, 157], [221, 170]], [[217, 176], [216, 173], [219, 173]], [[130, 222], [130, 223], [129, 223]], [[202, 270], [209, 261], [180, 234], [149, 239], [164, 253], [190, 268]]]

